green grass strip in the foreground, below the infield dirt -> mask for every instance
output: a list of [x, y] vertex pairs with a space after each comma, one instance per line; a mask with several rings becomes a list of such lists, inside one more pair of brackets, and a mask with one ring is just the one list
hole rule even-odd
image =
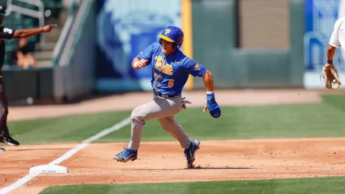
[[345, 177], [317, 177], [248, 181], [213, 181], [182, 183], [100, 184], [50, 186], [41, 194], [341, 194]]

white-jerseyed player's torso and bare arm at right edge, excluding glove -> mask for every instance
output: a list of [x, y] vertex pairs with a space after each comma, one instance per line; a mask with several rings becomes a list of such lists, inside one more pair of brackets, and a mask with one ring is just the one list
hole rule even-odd
[[325, 68], [327, 67], [334, 67], [333, 65], [333, 57], [336, 48], [341, 48], [343, 54], [344, 48], [342, 45], [345, 45], [345, 17], [339, 18], [334, 24], [334, 30], [332, 32], [331, 38], [328, 43], [327, 48], [327, 63], [325, 64]]

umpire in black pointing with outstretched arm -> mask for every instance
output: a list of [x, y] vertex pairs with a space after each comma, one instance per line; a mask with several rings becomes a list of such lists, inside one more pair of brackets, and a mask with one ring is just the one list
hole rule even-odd
[[[8, 100], [5, 90], [5, 84], [2, 77], [2, 65], [5, 59], [5, 43], [3, 39], [28, 38], [38, 35], [42, 32], [50, 32], [52, 27], [55, 27], [57, 25], [46, 25], [41, 28], [14, 30], [2, 26], [2, 21], [5, 14], [6, 11], [2, 8], [2, 6], [0, 6], [0, 140], [8, 145], [17, 146], [19, 145], [19, 142], [10, 137], [10, 133], [7, 127]], [[0, 148], [0, 152], [3, 151], [5, 151], [5, 149]]]

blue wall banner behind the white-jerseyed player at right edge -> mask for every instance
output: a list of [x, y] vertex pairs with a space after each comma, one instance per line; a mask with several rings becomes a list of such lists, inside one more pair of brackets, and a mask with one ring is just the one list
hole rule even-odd
[[[304, 64], [306, 72], [321, 73], [327, 61], [327, 47], [334, 23], [343, 13], [342, 0], [305, 0]], [[340, 14], [339, 14], [340, 13]], [[333, 58], [339, 72], [345, 71], [341, 49]]]

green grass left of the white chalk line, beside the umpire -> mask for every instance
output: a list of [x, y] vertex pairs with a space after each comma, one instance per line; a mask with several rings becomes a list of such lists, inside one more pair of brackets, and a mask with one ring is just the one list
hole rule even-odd
[[71, 115], [9, 122], [13, 138], [21, 144], [80, 142], [130, 116], [131, 111]]

